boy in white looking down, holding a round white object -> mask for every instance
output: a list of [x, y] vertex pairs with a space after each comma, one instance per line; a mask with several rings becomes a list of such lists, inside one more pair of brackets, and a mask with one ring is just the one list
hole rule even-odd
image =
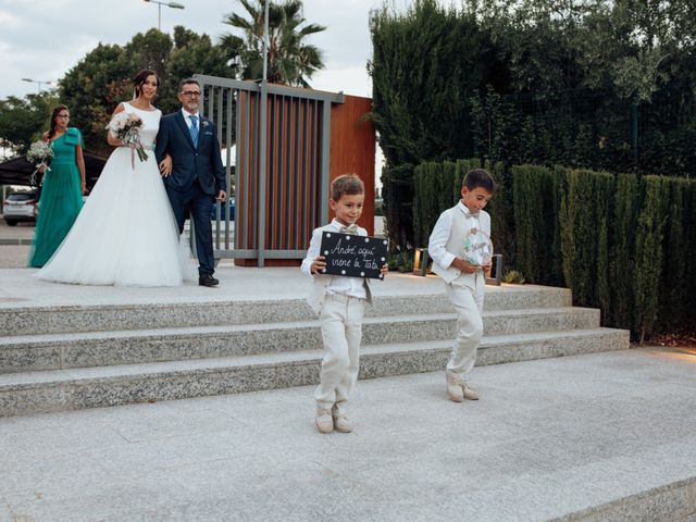
[[457, 312], [458, 332], [446, 371], [447, 393], [456, 402], [478, 399], [478, 394], [469, 387], [467, 375], [476, 361], [483, 337], [483, 294], [493, 257], [490, 215], [483, 209], [494, 190], [490, 174], [483, 169], [470, 171], [461, 200], [440, 214], [427, 246], [433, 272], [445, 282], [447, 297]]

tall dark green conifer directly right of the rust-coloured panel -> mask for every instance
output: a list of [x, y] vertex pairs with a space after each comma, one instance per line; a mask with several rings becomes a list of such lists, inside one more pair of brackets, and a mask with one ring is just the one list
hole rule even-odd
[[370, 18], [372, 117], [387, 165], [471, 156], [470, 97], [493, 60], [473, 16], [436, 0]]

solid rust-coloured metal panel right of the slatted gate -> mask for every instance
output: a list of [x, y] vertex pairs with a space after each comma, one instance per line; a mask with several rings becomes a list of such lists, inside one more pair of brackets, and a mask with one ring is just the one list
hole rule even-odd
[[[374, 154], [375, 132], [368, 114], [372, 100], [346, 96], [344, 103], [331, 108], [330, 178], [341, 174], [357, 174], [365, 184], [365, 203], [358, 222], [374, 234]], [[332, 215], [333, 217], [333, 215]]]

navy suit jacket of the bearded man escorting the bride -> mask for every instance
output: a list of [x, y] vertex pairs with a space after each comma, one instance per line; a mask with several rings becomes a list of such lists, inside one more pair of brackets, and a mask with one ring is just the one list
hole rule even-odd
[[162, 117], [154, 147], [158, 163], [166, 152], [173, 163], [172, 174], [164, 178], [167, 187], [188, 191], [198, 179], [206, 194], [215, 196], [220, 190], [227, 191], [217, 129], [207, 117], [200, 117], [198, 144], [191, 140], [181, 110]]

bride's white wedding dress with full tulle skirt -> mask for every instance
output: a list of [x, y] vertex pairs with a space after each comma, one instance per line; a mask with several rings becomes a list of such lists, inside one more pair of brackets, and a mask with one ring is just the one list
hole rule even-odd
[[53, 257], [35, 275], [80, 285], [178, 286], [196, 281], [197, 268], [179, 240], [174, 213], [152, 144], [162, 112], [124, 102], [142, 120], [140, 140], [148, 159], [116, 148], [75, 224]]

